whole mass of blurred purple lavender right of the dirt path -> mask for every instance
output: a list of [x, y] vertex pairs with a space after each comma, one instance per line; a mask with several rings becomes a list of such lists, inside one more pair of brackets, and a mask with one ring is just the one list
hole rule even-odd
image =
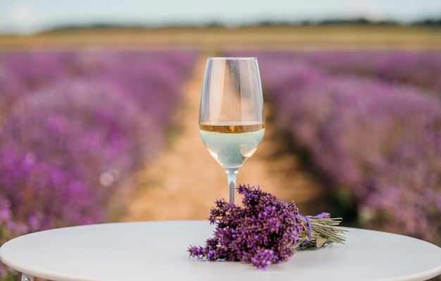
[[441, 244], [441, 54], [229, 55], [250, 54], [278, 124], [362, 226]]

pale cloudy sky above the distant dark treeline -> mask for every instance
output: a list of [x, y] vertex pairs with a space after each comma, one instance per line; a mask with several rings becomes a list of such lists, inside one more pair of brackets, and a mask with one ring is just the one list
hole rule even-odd
[[94, 23], [237, 26], [360, 17], [399, 23], [440, 19], [441, 0], [0, 0], [0, 33], [19, 35]]

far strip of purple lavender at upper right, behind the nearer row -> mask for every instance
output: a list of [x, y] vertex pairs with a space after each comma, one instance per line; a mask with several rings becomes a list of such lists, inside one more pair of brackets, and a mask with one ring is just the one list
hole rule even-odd
[[441, 53], [411, 51], [327, 51], [302, 54], [328, 73], [373, 77], [415, 86], [441, 97]]

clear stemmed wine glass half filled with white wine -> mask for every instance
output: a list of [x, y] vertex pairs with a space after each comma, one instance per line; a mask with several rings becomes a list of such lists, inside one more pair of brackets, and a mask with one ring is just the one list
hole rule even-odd
[[257, 58], [207, 58], [199, 132], [227, 173], [230, 203], [234, 204], [237, 173], [265, 133]]

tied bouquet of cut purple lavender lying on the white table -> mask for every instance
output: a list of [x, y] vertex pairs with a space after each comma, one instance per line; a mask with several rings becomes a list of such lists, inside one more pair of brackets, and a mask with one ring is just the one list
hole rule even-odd
[[190, 257], [208, 261], [242, 261], [259, 269], [288, 261], [295, 249], [344, 243], [344, 232], [336, 227], [342, 218], [329, 213], [304, 216], [297, 206], [259, 187], [240, 185], [242, 205], [216, 201], [209, 221], [216, 225], [204, 246], [188, 248]]

